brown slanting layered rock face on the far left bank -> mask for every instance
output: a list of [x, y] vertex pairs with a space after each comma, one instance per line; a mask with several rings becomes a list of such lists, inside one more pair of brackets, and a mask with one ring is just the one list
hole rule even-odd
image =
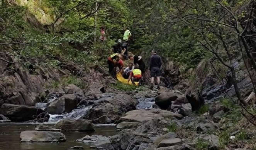
[[[6, 60], [14, 61], [11, 57]], [[44, 79], [40, 74], [29, 74], [17, 64], [13, 67], [14, 69], [3, 67], [3, 72], [0, 73], [0, 78], [3, 79], [0, 81], [0, 106], [3, 103], [34, 106], [40, 100], [39, 95], [44, 95]]]

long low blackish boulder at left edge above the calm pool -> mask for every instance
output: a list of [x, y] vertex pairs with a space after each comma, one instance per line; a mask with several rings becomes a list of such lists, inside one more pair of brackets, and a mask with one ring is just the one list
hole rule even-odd
[[49, 114], [34, 106], [3, 104], [0, 108], [0, 114], [10, 118], [12, 122], [36, 120], [39, 122], [47, 122]]

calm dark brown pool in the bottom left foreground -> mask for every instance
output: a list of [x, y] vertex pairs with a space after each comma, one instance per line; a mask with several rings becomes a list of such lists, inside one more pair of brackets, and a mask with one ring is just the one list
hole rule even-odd
[[66, 142], [60, 143], [20, 143], [20, 132], [34, 130], [35, 124], [0, 124], [0, 150], [67, 150], [73, 146], [82, 146], [85, 150], [89, 145], [74, 142], [85, 135], [112, 136], [117, 134], [114, 126], [95, 127], [95, 132], [63, 132]]

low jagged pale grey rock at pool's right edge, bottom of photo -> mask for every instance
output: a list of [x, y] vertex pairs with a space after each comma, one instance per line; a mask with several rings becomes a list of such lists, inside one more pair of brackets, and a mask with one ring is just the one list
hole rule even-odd
[[85, 137], [76, 140], [76, 142], [90, 144], [91, 148], [114, 150], [109, 138], [102, 135], [86, 135]]

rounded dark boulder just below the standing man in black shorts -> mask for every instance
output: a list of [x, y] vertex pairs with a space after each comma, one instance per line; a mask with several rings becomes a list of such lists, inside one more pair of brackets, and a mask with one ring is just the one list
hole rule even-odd
[[161, 109], [166, 110], [171, 105], [171, 101], [174, 101], [177, 98], [178, 97], [173, 92], [163, 92], [156, 97], [155, 103]]

